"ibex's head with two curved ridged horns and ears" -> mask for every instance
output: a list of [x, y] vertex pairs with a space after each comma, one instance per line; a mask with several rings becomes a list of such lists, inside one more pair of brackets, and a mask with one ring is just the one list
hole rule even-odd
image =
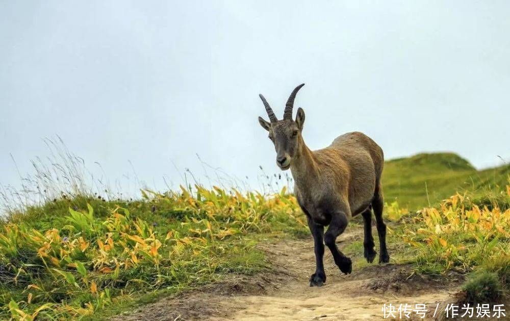
[[304, 111], [298, 108], [296, 120], [292, 120], [292, 108], [294, 107], [294, 99], [296, 94], [304, 84], [297, 86], [289, 96], [287, 104], [285, 104], [284, 118], [278, 120], [273, 110], [266, 101], [266, 98], [260, 94], [260, 98], [266, 107], [267, 115], [270, 121], [259, 117], [262, 128], [269, 132], [269, 139], [274, 143], [276, 150], [276, 164], [283, 170], [289, 169], [292, 159], [296, 157], [299, 151], [299, 145], [302, 143], [301, 131], [304, 124]]

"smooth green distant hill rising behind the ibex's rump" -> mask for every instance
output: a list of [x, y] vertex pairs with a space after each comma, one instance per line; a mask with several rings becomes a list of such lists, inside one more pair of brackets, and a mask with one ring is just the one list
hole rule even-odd
[[476, 170], [453, 153], [418, 154], [389, 160], [382, 174], [385, 200], [417, 210], [435, 205], [453, 192], [486, 193], [504, 187], [510, 165]]

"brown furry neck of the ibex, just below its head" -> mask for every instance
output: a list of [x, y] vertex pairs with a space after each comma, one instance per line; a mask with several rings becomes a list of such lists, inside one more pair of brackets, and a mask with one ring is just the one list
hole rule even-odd
[[301, 193], [311, 191], [318, 183], [319, 168], [314, 154], [301, 138], [299, 150], [290, 166], [292, 177]]

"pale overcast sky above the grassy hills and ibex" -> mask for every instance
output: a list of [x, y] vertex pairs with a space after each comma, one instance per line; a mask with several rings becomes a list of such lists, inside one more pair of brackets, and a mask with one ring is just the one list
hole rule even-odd
[[[510, 160], [507, 1], [1, 1], [0, 183], [59, 135], [92, 170], [164, 188], [196, 157], [277, 172], [257, 117], [292, 89], [311, 149], [362, 131], [386, 158]], [[295, 114], [295, 113], [294, 113]], [[131, 164], [130, 164], [131, 162]], [[173, 162], [173, 163], [172, 163]], [[203, 180], [203, 177], [201, 178]]]

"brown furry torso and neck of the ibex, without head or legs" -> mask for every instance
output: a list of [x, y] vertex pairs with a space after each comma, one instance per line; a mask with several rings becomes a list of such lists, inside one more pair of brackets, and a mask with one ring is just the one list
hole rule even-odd
[[339, 205], [348, 218], [369, 207], [384, 162], [381, 148], [372, 139], [360, 132], [347, 133], [312, 152], [299, 135], [299, 145], [290, 169], [294, 192], [310, 215], [320, 217], [316, 205], [323, 202], [344, 203]]

